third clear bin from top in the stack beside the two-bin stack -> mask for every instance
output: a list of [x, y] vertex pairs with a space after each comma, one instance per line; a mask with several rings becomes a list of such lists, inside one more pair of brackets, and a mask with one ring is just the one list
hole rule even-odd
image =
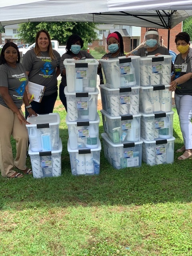
[[70, 122], [68, 114], [66, 124], [68, 126], [69, 144], [71, 149], [98, 148], [100, 117], [97, 113], [96, 121]]

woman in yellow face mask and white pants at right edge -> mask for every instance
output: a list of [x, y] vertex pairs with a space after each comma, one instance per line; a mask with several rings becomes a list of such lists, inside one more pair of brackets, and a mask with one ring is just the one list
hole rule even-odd
[[192, 48], [190, 36], [186, 32], [176, 35], [175, 43], [180, 54], [174, 62], [174, 80], [170, 90], [175, 92], [175, 104], [179, 116], [184, 146], [176, 152], [184, 152], [178, 160], [192, 157]]

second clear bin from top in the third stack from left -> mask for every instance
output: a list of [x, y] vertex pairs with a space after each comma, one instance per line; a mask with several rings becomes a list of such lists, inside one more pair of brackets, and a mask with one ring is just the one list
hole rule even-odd
[[110, 89], [100, 84], [102, 109], [110, 116], [139, 114], [139, 89], [137, 87]]

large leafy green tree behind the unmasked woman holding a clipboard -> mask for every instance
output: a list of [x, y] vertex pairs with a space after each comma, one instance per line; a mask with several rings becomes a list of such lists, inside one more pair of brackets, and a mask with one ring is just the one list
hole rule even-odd
[[26, 22], [19, 25], [19, 38], [25, 43], [34, 43], [39, 30], [49, 32], [52, 40], [58, 40], [60, 45], [65, 45], [71, 34], [78, 34], [86, 45], [97, 39], [94, 31], [96, 24], [93, 22]]

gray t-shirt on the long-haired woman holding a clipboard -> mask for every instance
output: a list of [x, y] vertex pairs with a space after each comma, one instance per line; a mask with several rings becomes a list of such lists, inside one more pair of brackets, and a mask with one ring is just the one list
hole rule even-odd
[[32, 49], [26, 52], [22, 60], [26, 71], [29, 71], [29, 81], [45, 86], [45, 96], [58, 90], [56, 67], [59, 68], [61, 57], [56, 50], [53, 50], [53, 53], [56, 59], [51, 59], [48, 51], [41, 52], [40, 56], [36, 56]]

